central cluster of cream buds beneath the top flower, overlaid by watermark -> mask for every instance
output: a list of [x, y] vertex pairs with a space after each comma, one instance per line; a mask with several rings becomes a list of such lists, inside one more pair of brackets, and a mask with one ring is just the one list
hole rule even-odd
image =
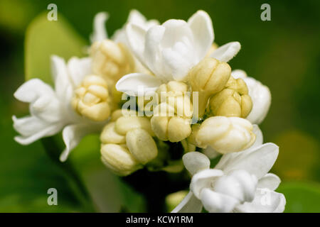
[[191, 134], [193, 106], [188, 85], [171, 81], [156, 91], [160, 103], [154, 108], [151, 128], [160, 140], [179, 142]]

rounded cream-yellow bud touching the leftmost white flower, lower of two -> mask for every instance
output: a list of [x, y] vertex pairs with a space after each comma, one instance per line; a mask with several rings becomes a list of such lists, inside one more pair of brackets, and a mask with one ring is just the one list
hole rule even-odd
[[75, 89], [71, 101], [78, 114], [93, 121], [105, 121], [110, 116], [110, 101], [107, 82], [96, 75], [86, 76]]

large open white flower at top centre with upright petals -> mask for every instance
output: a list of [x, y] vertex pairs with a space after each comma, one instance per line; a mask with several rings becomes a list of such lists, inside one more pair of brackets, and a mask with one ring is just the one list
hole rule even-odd
[[[204, 11], [196, 12], [187, 22], [171, 19], [149, 29], [129, 23], [126, 31], [132, 52], [153, 73], [132, 73], [119, 79], [117, 90], [134, 95], [138, 89], [155, 92], [166, 82], [185, 81], [189, 70], [206, 56], [214, 38], [211, 19]], [[210, 57], [228, 61], [239, 50], [240, 43], [228, 43]]]

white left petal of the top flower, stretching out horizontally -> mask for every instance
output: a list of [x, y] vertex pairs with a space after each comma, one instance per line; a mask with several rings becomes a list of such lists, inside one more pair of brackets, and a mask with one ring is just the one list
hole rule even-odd
[[143, 95], [146, 92], [155, 92], [161, 81], [154, 76], [143, 73], [127, 74], [118, 80], [116, 89], [132, 96]]

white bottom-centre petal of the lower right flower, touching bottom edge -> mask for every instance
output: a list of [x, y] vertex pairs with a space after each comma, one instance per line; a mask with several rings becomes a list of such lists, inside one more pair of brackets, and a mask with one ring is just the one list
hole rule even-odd
[[210, 189], [203, 189], [201, 201], [204, 208], [210, 213], [230, 213], [239, 204], [238, 199], [225, 194], [213, 192]]

